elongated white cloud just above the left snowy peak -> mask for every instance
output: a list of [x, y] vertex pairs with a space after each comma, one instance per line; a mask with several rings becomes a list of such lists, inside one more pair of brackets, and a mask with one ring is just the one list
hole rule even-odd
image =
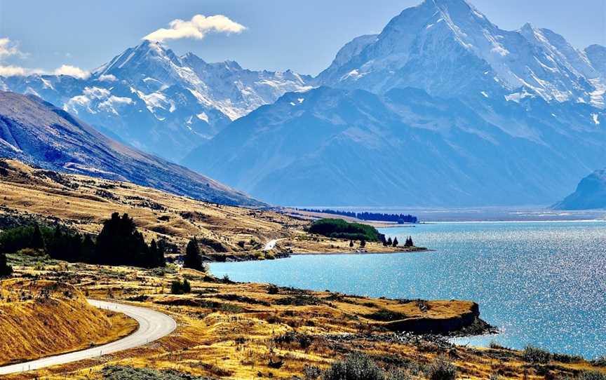
[[191, 20], [173, 20], [168, 23], [170, 28], [161, 28], [147, 34], [143, 39], [150, 41], [165, 41], [167, 39], [203, 39], [207, 33], [241, 33], [246, 27], [232, 21], [224, 15], [195, 15]]

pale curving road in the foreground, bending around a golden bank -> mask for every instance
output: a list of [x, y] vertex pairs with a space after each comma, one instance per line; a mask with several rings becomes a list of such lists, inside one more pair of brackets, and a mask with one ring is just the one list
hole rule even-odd
[[170, 334], [177, 328], [177, 323], [173, 318], [149, 308], [115, 304], [114, 302], [97, 301], [95, 299], [88, 299], [88, 303], [97, 308], [105, 308], [107, 310], [124, 313], [130, 318], [136, 320], [137, 323], [139, 323], [139, 328], [136, 332], [130, 334], [128, 337], [112, 343], [104, 344], [103, 346], [88, 348], [86, 350], [76, 351], [73, 353], [49, 356], [47, 358], [32, 360], [31, 362], [22, 362], [19, 364], [0, 367], [0, 375], [33, 371], [34, 369], [51, 367], [53, 365], [77, 362], [79, 360], [90, 358], [99, 358], [100, 356], [109, 353], [116, 353], [119, 351], [128, 350], [129, 348], [144, 346], [149, 342], [166, 337], [166, 335]]

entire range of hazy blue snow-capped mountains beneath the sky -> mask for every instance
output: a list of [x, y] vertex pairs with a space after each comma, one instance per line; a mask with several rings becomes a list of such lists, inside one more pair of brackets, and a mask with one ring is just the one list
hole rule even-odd
[[606, 48], [426, 0], [316, 78], [144, 41], [69, 76], [0, 78], [282, 205], [548, 205], [606, 166]]

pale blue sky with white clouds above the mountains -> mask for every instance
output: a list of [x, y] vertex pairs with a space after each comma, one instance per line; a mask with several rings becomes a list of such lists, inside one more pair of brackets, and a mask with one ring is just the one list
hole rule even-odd
[[[248, 69], [316, 75], [344, 43], [381, 32], [419, 2], [0, 0], [0, 66], [78, 74], [152, 35], [177, 55], [191, 51], [207, 62], [236, 60]], [[563, 34], [577, 48], [606, 45], [606, 0], [470, 2], [502, 29], [530, 22]]]

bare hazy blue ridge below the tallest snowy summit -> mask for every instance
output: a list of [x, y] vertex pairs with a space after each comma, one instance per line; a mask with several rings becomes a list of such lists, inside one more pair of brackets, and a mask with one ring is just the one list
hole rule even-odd
[[603, 161], [606, 134], [587, 104], [486, 107], [532, 125], [534, 138], [424, 90], [321, 87], [234, 121], [184, 163], [281, 205], [453, 206], [553, 203]]

